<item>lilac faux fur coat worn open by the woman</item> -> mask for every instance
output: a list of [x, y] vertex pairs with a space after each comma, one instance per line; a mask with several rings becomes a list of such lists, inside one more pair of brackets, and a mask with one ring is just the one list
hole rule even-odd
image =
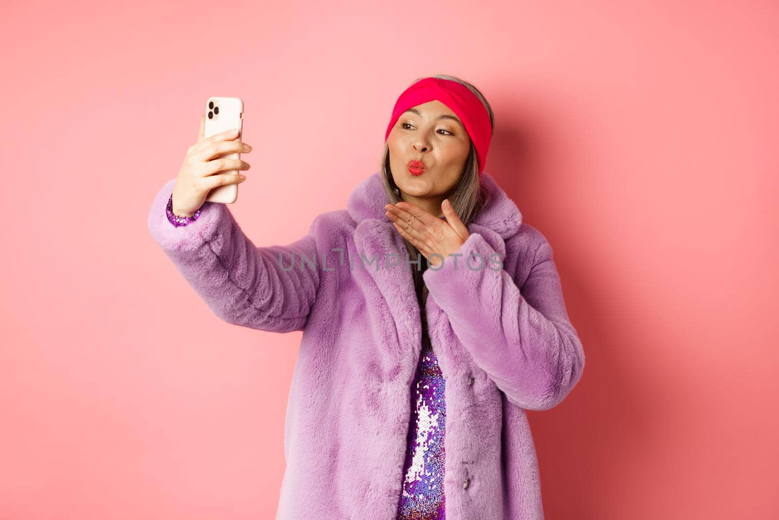
[[[303, 331], [277, 518], [393, 520], [421, 318], [379, 173], [354, 188], [347, 209], [317, 216], [305, 237], [266, 247], [241, 232], [223, 203], [206, 202], [198, 221], [171, 225], [165, 205], [174, 182], [153, 200], [150, 232], [213, 313], [241, 327]], [[467, 226], [457, 268], [450, 257], [424, 274], [446, 380], [446, 518], [543, 518], [525, 410], [562, 401], [581, 377], [584, 353], [551, 246], [490, 175], [481, 182], [491, 199]], [[280, 253], [284, 268], [294, 253], [291, 270]], [[498, 253], [502, 270], [479, 269], [477, 256], [467, 268], [469, 253], [488, 262]], [[376, 255], [379, 263], [368, 264]]]

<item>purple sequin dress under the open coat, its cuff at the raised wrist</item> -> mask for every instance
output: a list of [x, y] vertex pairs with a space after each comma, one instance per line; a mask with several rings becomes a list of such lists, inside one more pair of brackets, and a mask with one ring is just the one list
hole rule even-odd
[[[167, 220], [176, 227], [189, 225], [200, 210], [189, 218], [177, 217], [171, 210], [173, 196], [167, 201]], [[445, 475], [444, 437], [446, 426], [445, 380], [435, 357], [422, 317], [422, 348], [417, 373], [411, 387], [411, 423], [408, 428], [403, 490], [400, 493], [397, 520], [444, 520]]]

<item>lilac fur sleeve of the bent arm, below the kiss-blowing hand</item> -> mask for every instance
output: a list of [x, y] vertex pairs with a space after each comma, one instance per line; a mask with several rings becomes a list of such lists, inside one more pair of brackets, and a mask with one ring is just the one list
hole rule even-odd
[[[439, 271], [428, 269], [423, 275], [430, 295], [446, 312], [474, 362], [509, 401], [529, 410], [559, 404], [584, 366], [582, 345], [562, 299], [552, 246], [540, 233], [537, 242], [534, 252], [530, 250], [532, 267], [521, 287], [515, 281], [517, 273], [490, 264], [495, 249], [479, 233], [471, 233], [456, 252], [462, 253], [456, 268], [451, 257]], [[465, 261], [471, 254], [468, 268]], [[478, 269], [476, 254], [487, 267]]]

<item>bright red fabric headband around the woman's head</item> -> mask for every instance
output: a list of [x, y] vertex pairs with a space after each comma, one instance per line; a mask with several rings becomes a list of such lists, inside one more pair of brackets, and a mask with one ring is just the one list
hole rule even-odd
[[384, 136], [386, 142], [400, 115], [418, 104], [437, 99], [449, 107], [463, 122], [468, 136], [476, 148], [479, 175], [484, 172], [489, 143], [492, 140], [492, 124], [485, 105], [464, 84], [453, 80], [425, 78], [411, 85], [395, 101], [390, 124]]

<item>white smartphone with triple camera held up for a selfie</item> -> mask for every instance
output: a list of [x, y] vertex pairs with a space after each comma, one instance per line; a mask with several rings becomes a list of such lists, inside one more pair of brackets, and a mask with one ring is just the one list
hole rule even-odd
[[[225, 132], [230, 129], [238, 129], [241, 133], [235, 140], [243, 139], [243, 100], [240, 97], [209, 97], [206, 101], [206, 126], [203, 129], [203, 139], [214, 134]], [[217, 157], [227, 157], [228, 159], [238, 159], [241, 154], [230, 152], [228, 154], [217, 155]], [[216, 159], [217, 157], [213, 157]], [[238, 175], [240, 170], [225, 170], [217, 172], [216, 175], [233, 174]], [[206, 196], [209, 202], [221, 202], [225, 204], [234, 203], [238, 199], [238, 184], [225, 184], [212, 189]]]

